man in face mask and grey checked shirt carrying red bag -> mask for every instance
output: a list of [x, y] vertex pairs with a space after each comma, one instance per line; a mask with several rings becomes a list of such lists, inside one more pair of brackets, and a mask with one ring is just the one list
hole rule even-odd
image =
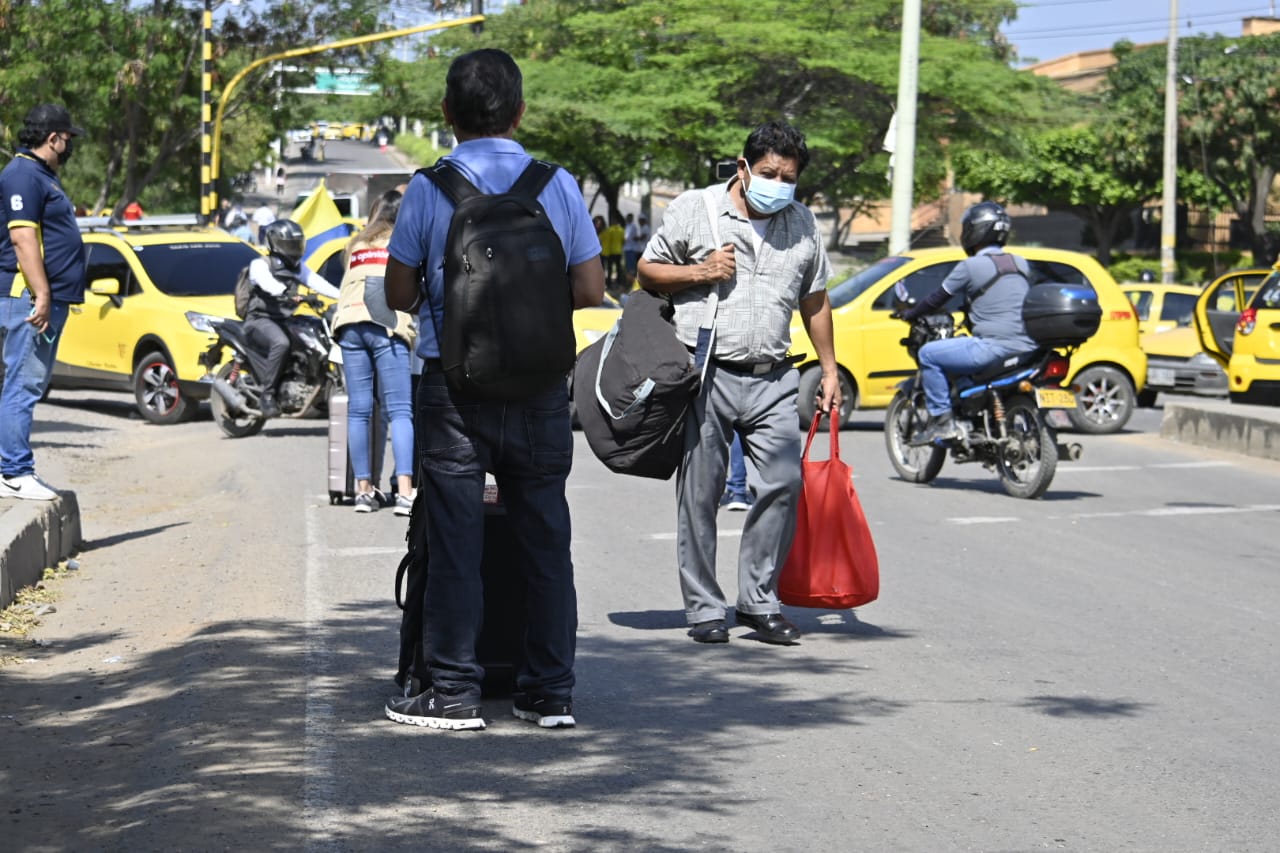
[[794, 200], [808, 163], [799, 131], [762, 124], [727, 184], [671, 202], [639, 264], [640, 286], [671, 296], [676, 332], [690, 351], [700, 334], [710, 339], [676, 482], [680, 587], [689, 634], [699, 643], [730, 639], [728, 603], [716, 580], [716, 511], [735, 432], [758, 473], [739, 548], [736, 622], [765, 643], [800, 638], [777, 597], [800, 492], [799, 374], [787, 353], [796, 309], [822, 365], [818, 407], [841, 405], [827, 300], [831, 263], [813, 213]]

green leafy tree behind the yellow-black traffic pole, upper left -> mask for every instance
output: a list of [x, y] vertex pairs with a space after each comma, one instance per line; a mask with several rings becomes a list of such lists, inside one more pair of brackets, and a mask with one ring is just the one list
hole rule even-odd
[[[214, 99], [257, 56], [376, 27], [371, 0], [246, 4], [216, 0]], [[67, 104], [86, 128], [64, 184], [79, 201], [118, 211], [141, 199], [159, 210], [197, 207], [201, 18], [198, 1], [0, 0], [0, 124], [31, 105]], [[330, 58], [332, 60], [332, 58]], [[227, 113], [223, 174], [244, 170], [274, 136], [270, 70], [246, 81]]]

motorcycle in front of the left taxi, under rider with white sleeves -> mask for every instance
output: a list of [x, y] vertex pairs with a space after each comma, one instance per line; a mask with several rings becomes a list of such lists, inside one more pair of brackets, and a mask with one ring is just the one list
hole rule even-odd
[[[334, 309], [325, 311], [324, 302], [316, 296], [306, 296], [302, 302], [324, 316], [296, 314], [282, 324], [289, 336], [289, 353], [275, 400], [287, 418], [305, 418], [328, 406], [329, 396], [342, 391], [340, 365], [330, 360], [333, 338], [329, 321]], [[200, 364], [209, 371], [205, 379], [214, 392], [209, 394], [209, 405], [214, 420], [227, 435], [246, 438], [260, 432], [266, 423], [260, 409], [262, 388], [257, 380], [262, 374], [264, 356], [250, 345], [241, 320], [220, 319], [212, 325], [216, 338], [200, 356]], [[224, 348], [232, 351], [227, 364], [223, 364]]]

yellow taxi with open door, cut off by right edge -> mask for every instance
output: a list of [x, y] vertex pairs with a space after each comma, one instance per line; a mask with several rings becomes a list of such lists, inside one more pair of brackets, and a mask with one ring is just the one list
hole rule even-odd
[[1204, 288], [1196, 330], [1226, 369], [1231, 402], [1280, 406], [1280, 264], [1266, 278], [1236, 270]]

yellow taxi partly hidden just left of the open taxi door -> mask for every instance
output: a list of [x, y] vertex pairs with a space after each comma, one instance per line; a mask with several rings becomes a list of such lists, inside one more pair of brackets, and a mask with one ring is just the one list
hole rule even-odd
[[1196, 334], [1201, 288], [1126, 282], [1120, 289], [1138, 313], [1138, 342], [1147, 353], [1147, 386], [1138, 392], [1138, 405], [1156, 405], [1161, 392], [1225, 397], [1226, 374]]

